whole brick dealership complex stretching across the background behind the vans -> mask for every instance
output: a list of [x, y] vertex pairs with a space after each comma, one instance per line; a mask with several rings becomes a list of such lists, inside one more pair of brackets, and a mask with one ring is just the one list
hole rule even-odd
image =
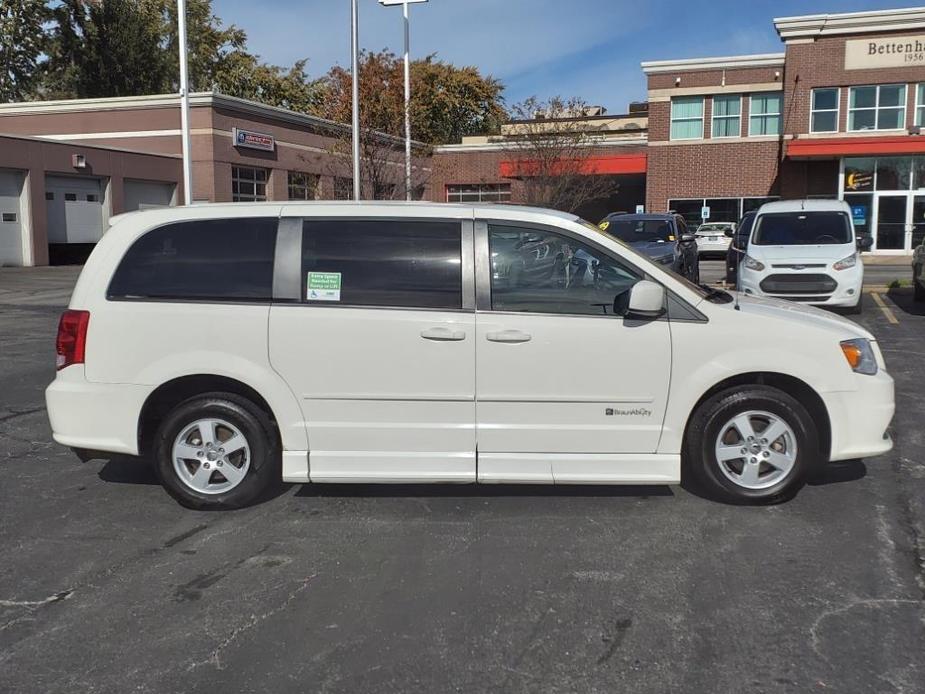
[[[779, 53], [642, 63], [647, 103], [629, 113], [513, 121], [438, 146], [415, 164], [416, 192], [524, 202], [530, 168], [512, 142], [538, 122], [578, 123], [589, 174], [612, 184], [579, 210], [592, 221], [640, 207], [733, 221], [771, 199], [841, 198], [875, 253], [908, 253], [925, 237], [925, 9], [773, 21]], [[191, 101], [193, 202], [352, 195], [335, 151], [348, 126], [220, 94]], [[182, 204], [178, 103], [0, 104], [0, 265], [48, 262], [99, 238], [110, 215]], [[389, 167], [385, 187], [400, 192], [401, 158]]]

